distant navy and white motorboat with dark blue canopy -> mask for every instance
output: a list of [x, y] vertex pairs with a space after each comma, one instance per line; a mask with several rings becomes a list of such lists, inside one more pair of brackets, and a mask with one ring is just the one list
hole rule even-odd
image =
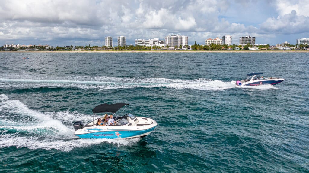
[[280, 82], [283, 82], [283, 78], [274, 78], [268, 77], [265, 78], [264, 76], [259, 76], [263, 73], [249, 73], [247, 74], [247, 79], [241, 81], [231, 81], [232, 84], [237, 86], [260, 86], [260, 85], [276, 85]]

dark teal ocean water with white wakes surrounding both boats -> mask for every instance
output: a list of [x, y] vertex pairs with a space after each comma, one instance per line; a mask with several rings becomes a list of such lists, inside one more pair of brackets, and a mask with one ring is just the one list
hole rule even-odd
[[[309, 172], [308, 57], [0, 53], [0, 172]], [[285, 81], [230, 83], [252, 72]], [[74, 136], [75, 120], [120, 102], [158, 126], [137, 139]]]

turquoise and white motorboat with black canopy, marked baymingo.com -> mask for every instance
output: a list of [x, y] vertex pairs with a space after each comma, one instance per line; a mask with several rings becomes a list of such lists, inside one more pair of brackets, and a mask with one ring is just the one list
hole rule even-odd
[[[157, 122], [150, 118], [137, 117], [132, 113], [122, 115], [129, 104], [100, 104], [92, 109], [94, 115], [97, 113], [108, 113], [114, 116], [115, 123], [104, 123], [101, 126], [97, 123], [97, 119], [87, 123], [77, 121], [73, 124], [75, 134], [79, 138], [107, 138], [107, 139], [127, 139], [145, 137], [151, 133], [157, 126]], [[119, 109], [124, 107], [124, 110], [119, 113]], [[100, 118], [104, 120], [104, 117]], [[100, 123], [101, 124], [101, 123]]]

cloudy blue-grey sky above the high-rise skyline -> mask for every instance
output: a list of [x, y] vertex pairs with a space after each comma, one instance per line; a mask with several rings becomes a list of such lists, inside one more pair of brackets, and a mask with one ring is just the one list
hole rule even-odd
[[105, 45], [105, 37], [164, 40], [188, 36], [188, 44], [232, 35], [256, 44], [295, 44], [309, 38], [309, 0], [10, 0], [0, 4], [0, 45]]

